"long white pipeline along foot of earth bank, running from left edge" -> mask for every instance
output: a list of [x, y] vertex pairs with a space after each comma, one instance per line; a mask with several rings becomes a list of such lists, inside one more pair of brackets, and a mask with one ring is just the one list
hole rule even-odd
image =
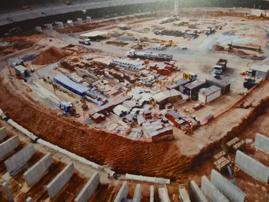
[[[1, 108], [0, 108], [0, 112], [3, 112], [3, 111], [1, 110]], [[1, 113], [1, 114], [3, 114], [3, 113]], [[98, 165], [98, 164], [96, 164], [96, 163], [94, 163], [94, 162], [91, 162], [91, 161], [89, 161], [89, 160], [87, 160], [87, 159], [85, 159], [85, 158], [83, 158], [83, 157], [78, 156], [77, 154], [74, 154], [74, 153], [72, 153], [72, 152], [70, 152], [70, 151], [67, 151], [67, 150], [65, 150], [65, 149], [63, 149], [63, 148], [60, 148], [60, 147], [58, 147], [58, 146], [56, 146], [56, 145], [53, 145], [53, 144], [51, 144], [50, 142], [47, 142], [47, 141], [45, 141], [45, 140], [42, 140], [41, 138], [38, 139], [37, 136], [35, 136], [33, 133], [31, 133], [29, 130], [25, 129], [25, 128], [22, 127], [21, 125], [17, 124], [17, 123], [16, 123], [15, 121], [13, 121], [12, 119], [8, 119], [7, 122], [8, 122], [10, 125], [12, 125], [14, 128], [16, 128], [17, 130], [21, 131], [21, 132], [22, 132], [23, 134], [25, 134], [27, 137], [31, 138], [33, 141], [36, 141], [36, 140], [37, 140], [36, 142], [39, 143], [39, 144], [41, 144], [41, 145], [44, 145], [44, 146], [46, 146], [46, 147], [48, 147], [48, 148], [51, 148], [51, 149], [54, 149], [54, 150], [56, 150], [56, 151], [58, 151], [58, 152], [60, 152], [60, 153], [62, 153], [62, 154], [65, 154], [65, 155], [67, 155], [67, 156], [69, 156], [69, 157], [71, 157], [71, 158], [73, 158], [73, 159], [75, 159], [75, 160], [77, 160], [77, 161], [80, 161], [80, 162], [82, 162], [82, 163], [85, 163], [85, 164], [87, 164], [87, 165], [90, 165], [90, 166], [92, 166], [92, 167], [94, 167], [94, 168], [96, 168], [96, 169], [104, 170], [104, 171], [105, 171], [106, 173], [108, 173], [108, 175], [111, 176], [111, 177], [114, 177], [114, 176], [116, 175], [116, 173], [115, 173], [114, 171], [112, 171], [112, 170], [110, 170], [110, 169], [108, 169], [108, 168], [105, 168], [105, 167], [103, 167], [102, 165]]]

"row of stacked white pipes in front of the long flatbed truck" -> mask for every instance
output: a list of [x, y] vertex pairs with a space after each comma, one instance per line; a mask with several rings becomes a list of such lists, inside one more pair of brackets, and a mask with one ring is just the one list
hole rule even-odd
[[136, 70], [142, 70], [146, 67], [144, 66], [144, 61], [137, 58], [136, 60], [130, 60], [129, 58], [121, 59], [117, 58], [111, 61], [111, 64], [124, 67], [124, 68], [131, 68]]

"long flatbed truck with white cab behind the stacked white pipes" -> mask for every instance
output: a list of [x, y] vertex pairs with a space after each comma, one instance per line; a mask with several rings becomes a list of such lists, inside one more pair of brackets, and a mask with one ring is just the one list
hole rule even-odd
[[173, 55], [152, 53], [152, 51], [141, 52], [141, 51], [135, 51], [135, 49], [132, 49], [126, 52], [126, 56], [140, 58], [140, 59], [155, 59], [155, 60], [162, 60], [162, 61], [165, 61], [165, 60], [170, 61], [173, 59]]

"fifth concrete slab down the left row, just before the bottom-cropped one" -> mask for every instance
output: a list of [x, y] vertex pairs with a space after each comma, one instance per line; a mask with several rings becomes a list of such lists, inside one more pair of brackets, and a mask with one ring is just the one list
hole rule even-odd
[[45, 186], [50, 199], [54, 198], [59, 191], [61, 191], [65, 184], [70, 180], [74, 172], [74, 163], [70, 162], [47, 186]]

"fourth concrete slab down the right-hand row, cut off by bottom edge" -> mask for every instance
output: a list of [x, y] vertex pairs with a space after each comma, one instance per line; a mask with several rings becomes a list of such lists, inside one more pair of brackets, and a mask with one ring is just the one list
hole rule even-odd
[[229, 202], [229, 200], [221, 194], [220, 191], [218, 191], [218, 189], [207, 179], [206, 176], [202, 176], [201, 190], [214, 202]]

